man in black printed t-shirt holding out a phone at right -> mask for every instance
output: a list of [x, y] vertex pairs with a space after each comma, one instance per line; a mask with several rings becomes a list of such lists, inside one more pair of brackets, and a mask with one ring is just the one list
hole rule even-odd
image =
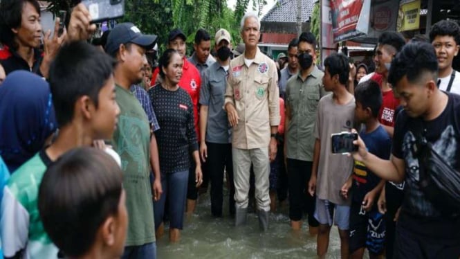
[[354, 159], [379, 177], [405, 180], [394, 258], [460, 256], [460, 216], [441, 213], [439, 204], [425, 195], [420, 172], [427, 164], [414, 152], [422, 135], [460, 174], [460, 96], [440, 91], [437, 78], [438, 62], [430, 44], [414, 42], [403, 47], [392, 61], [388, 78], [404, 108], [396, 120], [392, 156], [389, 161], [378, 159], [360, 139], [356, 141], [359, 150], [353, 153]]

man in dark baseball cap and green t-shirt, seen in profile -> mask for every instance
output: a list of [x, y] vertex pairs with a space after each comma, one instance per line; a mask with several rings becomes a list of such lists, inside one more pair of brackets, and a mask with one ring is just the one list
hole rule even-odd
[[[156, 258], [154, 199], [161, 195], [158, 148], [154, 134], [150, 134], [149, 120], [136, 96], [129, 91], [144, 77], [147, 64], [145, 51], [154, 47], [156, 35], [142, 35], [131, 23], [118, 24], [107, 38], [105, 50], [116, 58], [114, 77], [116, 101], [120, 106], [118, 127], [113, 134], [113, 144], [120, 154], [123, 187], [129, 215], [128, 235], [122, 258]], [[155, 174], [150, 185], [151, 165]]]

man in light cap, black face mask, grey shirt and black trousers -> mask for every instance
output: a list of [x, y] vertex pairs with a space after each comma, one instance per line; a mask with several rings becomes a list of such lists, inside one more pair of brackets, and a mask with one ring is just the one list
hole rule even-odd
[[204, 71], [200, 90], [200, 154], [210, 173], [211, 213], [214, 217], [222, 217], [224, 169], [230, 184], [228, 205], [230, 214], [234, 215], [231, 128], [222, 108], [232, 48], [230, 42], [230, 33], [226, 29], [217, 31], [214, 46], [217, 62]]

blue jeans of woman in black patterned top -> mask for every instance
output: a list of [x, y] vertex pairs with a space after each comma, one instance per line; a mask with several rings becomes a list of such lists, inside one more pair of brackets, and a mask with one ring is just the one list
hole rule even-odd
[[166, 196], [168, 196], [169, 228], [183, 229], [187, 183], [188, 170], [161, 176], [163, 194], [157, 202], [154, 202], [155, 229], [158, 229], [158, 226], [163, 221]]

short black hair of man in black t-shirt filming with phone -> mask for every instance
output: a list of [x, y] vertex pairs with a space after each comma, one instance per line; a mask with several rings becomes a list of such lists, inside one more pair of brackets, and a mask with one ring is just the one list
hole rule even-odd
[[410, 42], [392, 60], [388, 82], [396, 86], [396, 82], [407, 76], [407, 81], [416, 83], [424, 72], [434, 75], [437, 80], [438, 60], [434, 47], [426, 42]]

